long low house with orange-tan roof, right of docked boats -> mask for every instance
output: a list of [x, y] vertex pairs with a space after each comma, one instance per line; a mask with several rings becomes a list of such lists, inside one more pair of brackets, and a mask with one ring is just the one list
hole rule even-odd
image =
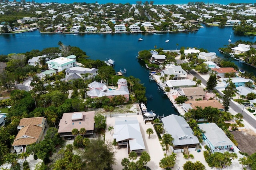
[[212, 107], [217, 108], [220, 111], [224, 110], [224, 107], [218, 100], [185, 101], [182, 106], [185, 112], [188, 112], [190, 109], [196, 110], [197, 107], [202, 107], [202, 109], [205, 107]]

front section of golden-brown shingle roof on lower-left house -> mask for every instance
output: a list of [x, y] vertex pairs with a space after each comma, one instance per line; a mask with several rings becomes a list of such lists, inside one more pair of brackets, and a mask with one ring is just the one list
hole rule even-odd
[[26, 127], [20, 129], [12, 146], [32, 144], [40, 137], [42, 127], [36, 125], [27, 125]]

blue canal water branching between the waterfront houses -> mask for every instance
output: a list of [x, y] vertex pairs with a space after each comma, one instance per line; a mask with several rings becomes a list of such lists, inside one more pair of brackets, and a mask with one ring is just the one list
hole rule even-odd
[[[232, 27], [208, 27], [200, 28], [196, 32], [177, 32], [177, 33], [159, 33], [152, 35], [145, 34], [41, 34], [38, 30], [22, 34], [1, 34], [0, 35], [0, 54], [23, 53], [32, 49], [42, 50], [46, 47], [57, 47], [61, 41], [65, 45], [80, 47], [91, 59], [112, 58], [116, 62], [114, 69], [126, 69], [126, 76], [134, 76], [141, 80], [146, 87], [146, 97], [148, 99], [148, 110], [155, 111], [157, 115], [177, 114], [166, 95], [160, 90], [154, 81], [148, 78], [149, 71], [140, 64], [136, 55], [138, 51], [144, 49], [158, 48], [178, 49], [180, 47], [199, 47], [208, 49], [210, 52], [222, 57], [218, 51], [219, 47], [228, 44]], [[144, 38], [138, 41], [138, 38]], [[165, 40], [170, 39], [166, 43]], [[237, 36], [232, 34], [232, 42], [244, 40], [255, 42], [254, 36]], [[246, 64], [234, 61], [240, 69], [255, 73], [255, 69]]]

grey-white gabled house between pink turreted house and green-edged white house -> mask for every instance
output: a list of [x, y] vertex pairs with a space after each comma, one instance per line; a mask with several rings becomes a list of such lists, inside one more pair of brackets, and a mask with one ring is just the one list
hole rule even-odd
[[90, 68], [76, 66], [76, 67], [67, 68], [65, 71], [67, 76], [76, 74], [80, 78], [82, 77], [82, 74], [89, 74], [88, 78], [95, 77], [96, 75], [98, 75], [98, 69], [95, 69], [95, 68], [90, 69]]

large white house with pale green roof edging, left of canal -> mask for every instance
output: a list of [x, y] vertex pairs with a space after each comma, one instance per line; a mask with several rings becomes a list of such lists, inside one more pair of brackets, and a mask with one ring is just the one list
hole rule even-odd
[[47, 61], [48, 68], [50, 70], [62, 71], [64, 69], [76, 66], [75, 55], [70, 55], [68, 57], [58, 57], [56, 59], [51, 59]]

